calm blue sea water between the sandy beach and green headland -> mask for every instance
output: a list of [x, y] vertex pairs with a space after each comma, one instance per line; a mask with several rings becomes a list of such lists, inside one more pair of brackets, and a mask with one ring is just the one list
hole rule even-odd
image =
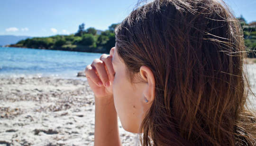
[[99, 53], [0, 48], [0, 77], [52, 76], [75, 78]]

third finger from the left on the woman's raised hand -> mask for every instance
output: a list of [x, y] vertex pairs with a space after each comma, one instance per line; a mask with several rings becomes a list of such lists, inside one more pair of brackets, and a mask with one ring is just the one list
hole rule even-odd
[[115, 71], [112, 65], [112, 57], [107, 54], [102, 54], [100, 60], [102, 60], [106, 65], [109, 79], [112, 82], [114, 80], [114, 74], [115, 74]]

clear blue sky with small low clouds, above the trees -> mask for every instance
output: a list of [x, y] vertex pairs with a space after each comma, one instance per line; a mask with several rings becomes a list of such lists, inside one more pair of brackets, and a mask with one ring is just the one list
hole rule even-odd
[[[235, 16], [256, 21], [256, 0], [224, 0]], [[121, 22], [137, 0], [0, 0], [0, 35], [45, 37], [85, 29], [107, 30]]]

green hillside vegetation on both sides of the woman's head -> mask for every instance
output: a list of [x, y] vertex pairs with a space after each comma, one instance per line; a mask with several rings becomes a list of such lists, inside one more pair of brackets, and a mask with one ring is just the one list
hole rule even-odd
[[[247, 51], [250, 52], [248, 57], [256, 57], [254, 52], [256, 51], [256, 22], [247, 24], [243, 16], [238, 17], [238, 20], [243, 28]], [[109, 26], [109, 30], [102, 32], [93, 27], [85, 30], [85, 24], [81, 24], [75, 34], [35, 37], [19, 41], [10, 47], [109, 53], [110, 49], [115, 46], [114, 30], [117, 25], [112, 24]]]

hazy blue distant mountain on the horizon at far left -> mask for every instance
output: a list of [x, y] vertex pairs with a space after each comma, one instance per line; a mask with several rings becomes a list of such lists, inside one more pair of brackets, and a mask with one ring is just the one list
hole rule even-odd
[[29, 36], [0, 35], [0, 46], [16, 44], [18, 41], [31, 38]]

